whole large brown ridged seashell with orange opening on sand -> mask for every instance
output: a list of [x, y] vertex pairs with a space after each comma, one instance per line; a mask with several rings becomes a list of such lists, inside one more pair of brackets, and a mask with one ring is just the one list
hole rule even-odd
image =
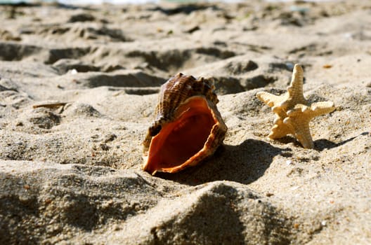
[[227, 126], [210, 80], [178, 73], [162, 85], [156, 119], [143, 142], [143, 170], [175, 173], [214, 154]]

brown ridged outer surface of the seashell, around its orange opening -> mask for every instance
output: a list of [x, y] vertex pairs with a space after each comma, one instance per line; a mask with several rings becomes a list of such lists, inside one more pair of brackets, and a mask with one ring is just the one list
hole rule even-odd
[[[144, 155], [148, 153], [152, 137], [155, 137], [160, 132], [163, 125], [175, 119], [176, 109], [178, 109], [183, 102], [194, 96], [202, 96], [207, 100], [209, 109], [213, 111], [214, 117], [217, 118], [219, 122], [216, 127], [211, 130], [210, 134], [212, 134], [213, 140], [206, 142], [204, 146], [206, 151], [202, 159], [214, 153], [216, 148], [222, 144], [227, 131], [223, 118], [221, 118], [221, 114], [216, 107], [219, 99], [214, 92], [214, 88], [214, 84], [211, 80], [205, 78], [196, 79], [193, 76], [185, 76], [182, 73], [178, 73], [176, 76], [167, 80], [160, 90], [155, 110], [155, 121], [148, 129], [148, 134], [143, 141]], [[196, 165], [202, 159], [200, 158], [190, 165]]]

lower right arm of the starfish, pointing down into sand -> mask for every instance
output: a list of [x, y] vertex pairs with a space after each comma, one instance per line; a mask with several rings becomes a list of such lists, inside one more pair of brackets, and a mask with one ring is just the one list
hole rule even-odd
[[[304, 120], [303, 120], [304, 119]], [[304, 148], [313, 148], [313, 139], [309, 130], [309, 120], [305, 118], [285, 118], [284, 123], [294, 128], [294, 136]]]

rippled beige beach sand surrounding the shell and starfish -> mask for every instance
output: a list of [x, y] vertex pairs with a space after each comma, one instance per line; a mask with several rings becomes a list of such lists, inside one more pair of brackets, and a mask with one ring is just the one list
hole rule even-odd
[[[0, 244], [370, 244], [371, 3], [0, 6]], [[315, 148], [268, 139], [304, 67]], [[141, 170], [160, 85], [215, 80], [202, 164]]]

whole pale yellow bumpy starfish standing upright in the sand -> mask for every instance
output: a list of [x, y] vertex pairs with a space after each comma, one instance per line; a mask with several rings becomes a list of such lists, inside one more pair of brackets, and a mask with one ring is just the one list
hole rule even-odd
[[303, 69], [295, 64], [292, 80], [283, 95], [258, 92], [256, 97], [272, 108], [275, 113], [274, 126], [268, 135], [280, 139], [287, 134], [296, 137], [304, 148], [313, 148], [309, 122], [316, 116], [334, 111], [334, 102], [315, 102], [310, 104], [303, 94]]

